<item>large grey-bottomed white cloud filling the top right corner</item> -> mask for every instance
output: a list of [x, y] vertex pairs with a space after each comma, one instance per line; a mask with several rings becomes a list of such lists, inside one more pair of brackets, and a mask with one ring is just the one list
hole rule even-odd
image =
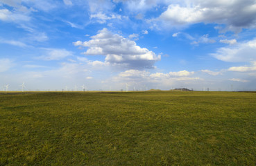
[[255, 1], [178, 1], [169, 4], [166, 11], [154, 21], [171, 27], [198, 23], [225, 24], [232, 28], [255, 27]]

